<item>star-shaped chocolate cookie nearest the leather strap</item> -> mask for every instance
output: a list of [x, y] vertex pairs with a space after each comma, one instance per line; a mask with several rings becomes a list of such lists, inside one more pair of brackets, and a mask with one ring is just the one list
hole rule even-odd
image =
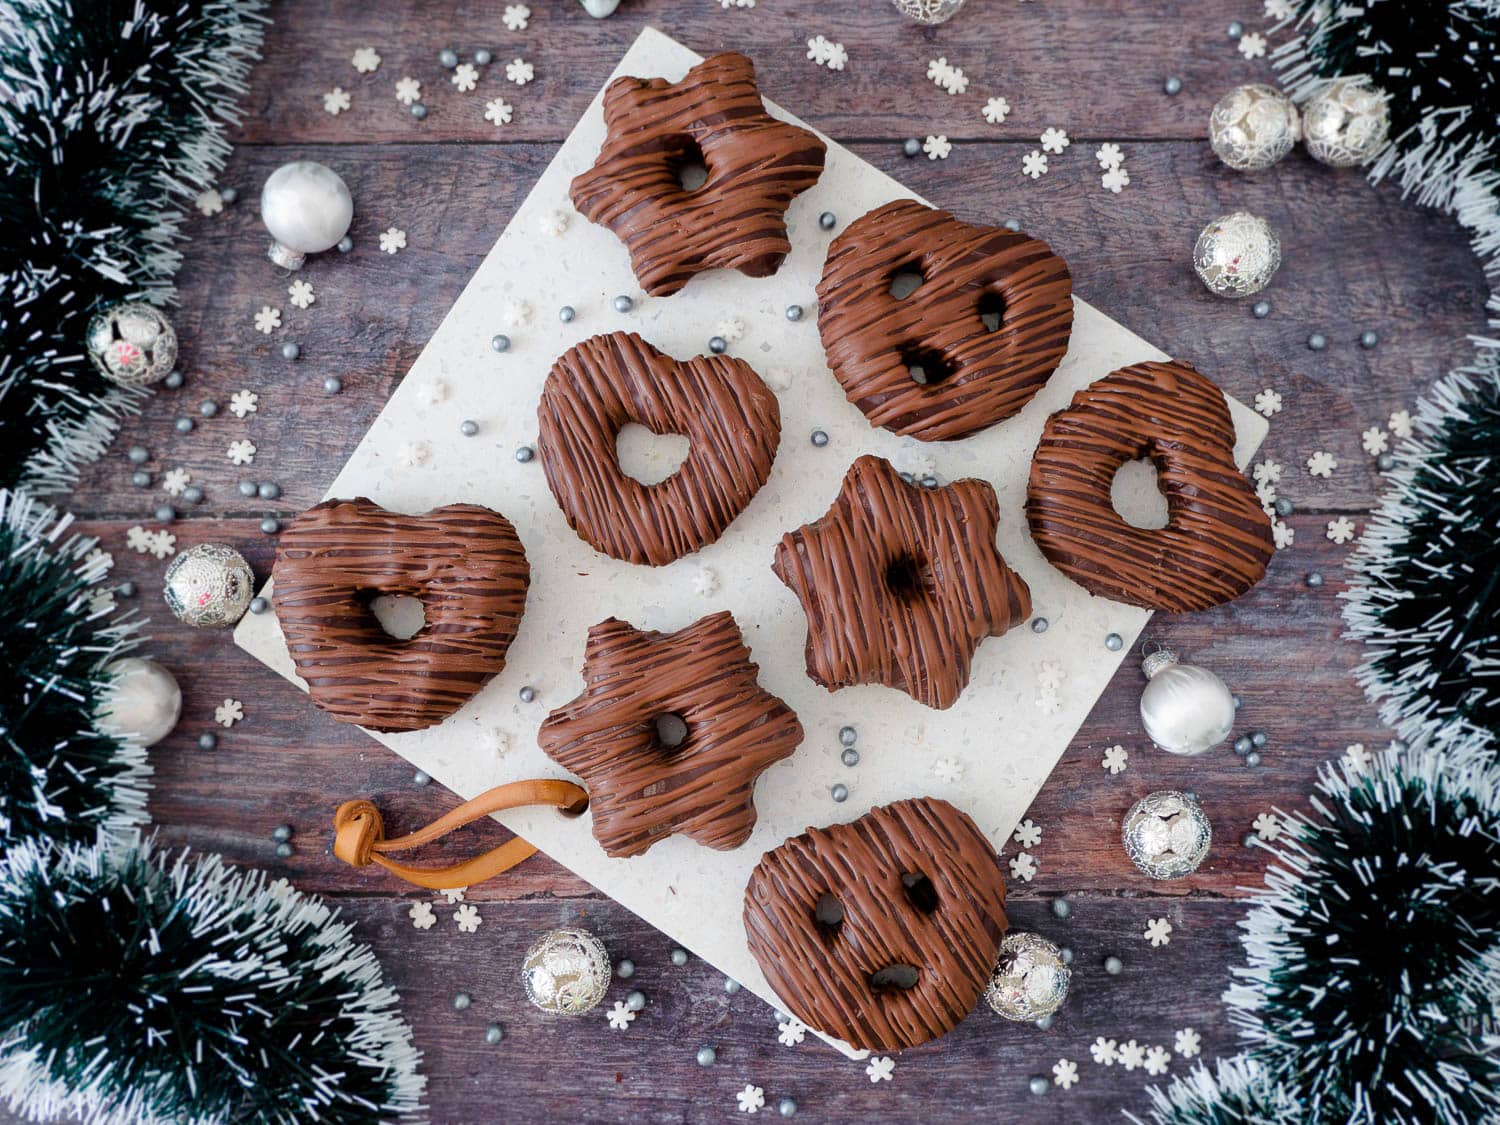
[[588, 630], [584, 693], [537, 741], [584, 778], [608, 855], [640, 855], [674, 832], [720, 850], [750, 837], [756, 778], [802, 741], [758, 670], [728, 612], [676, 633], [618, 618]]

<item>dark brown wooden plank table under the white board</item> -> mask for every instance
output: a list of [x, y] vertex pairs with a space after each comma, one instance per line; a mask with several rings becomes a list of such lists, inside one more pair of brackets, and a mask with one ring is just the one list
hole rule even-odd
[[[1320, 762], [1350, 742], [1384, 738], [1350, 675], [1358, 648], [1340, 636], [1348, 548], [1330, 543], [1323, 530], [1336, 513], [1362, 524], [1378, 490], [1359, 432], [1410, 405], [1466, 354], [1464, 334], [1484, 326], [1484, 282], [1462, 231], [1390, 189], [1372, 189], [1358, 171], [1332, 171], [1300, 153], [1258, 176], [1215, 160], [1204, 142], [1209, 106], [1234, 82], [1270, 78], [1264, 60], [1242, 60], [1226, 36], [1230, 20], [1258, 15], [1251, 0], [970, 0], [936, 30], [903, 21], [880, 0], [760, 0], [756, 9], [729, 10], [714, 0], [626, 0], [598, 22], [573, 0], [531, 3], [531, 27], [522, 33], [502, 28], [500, 0], [276, 6], [222, 180], [240, 201], [189, 224], [176, 312], [188, 384], [159, 393], [70, 500], [114, 552], [117, 576], [138, 582], [154, 627], [150, 651], [184, 690], [182, 724], [153, 752], [150, 810], [160, 837], [285, 874], [328, 896], [357, 922], [400, 990], [424, 1052], [436, 1120], [712, 1120], [735, 1116], [734, 1095], [747, 1082], [765, 1088], [765, 1112], [790, 1095], [804, 1118], [819, 1120], [1092, 1122], [1113, 1118], [1120, 1106], [1138, 1110], [1144, 1072], [1096, 1066], [1088, 1044], [1107, 1035], [1170, 1048], [1173, 1032], [1191, 1026], [1203, 1035], [1204, 1056], [1233, 1052], [1220, 994], [1239, 962], [1242, 888], [1258, 884], [1264, 860], [1240, 837], [1257, 813], [1300, 807]], [[261, 518], [285, 519], [321, 498], [512, 208], [646, 24], [702, 52], [748, 52], [770, 96], [876, 166], [960, 218], [1020, 219], [1066, 256], [1077, 292], [1106, 314], [1192, 360], [1244, 400], [1268, 386], [1286, 398], [1264, 454], [1286, 466], [1281, 492], [1298, 504], [1288, 520], [1296, 544], [1276, 555], [1250, 596], [1209, 614], [1158, 616], [1148, 633], [1216, 669], [1240, 693], [1240, 729], [1269, 735], [1263, 764], [1246, 768], [1227, 747], [1202, 759], [1149, 748], [1136, 711], [1143, 681], [1126, 662], [1030, 810], [1044, 830], [1034, 849], [1041, 873], [1011, 886], [1014, 924], [1076, 951], [1068, 1005], [1048, 1030], [1008, 1024], [981, 1008], [942, 1041], [902, 1054], [894, 1082], [879, 1086], [862, 1066], [813, 1041], [778, 1046], [772, 1012], [760, 1000], [726, 994], [704, 962], [674, 968], [664, 936], [543, 856], [471, 891], [484, 918], [477, 934], [459, 934], [450, 910], [440, 910], [438, 928], [414, 930], [406, 909], [424, 896], [375, 868], [356, 873], [336, 862], [330, 813], [339, 800], [369, 794], [388, 810], [392, 828], [404, 831], [454, 798], [414, 786], [406, 764], [324, 717], [236, 650], [226, 633], [172, 621], [159, 600], [162, 564], [124, 546], [124, 530], [150, 522], [164, 500], [159, 489], [130, 488], [124, 450], [138, 442], [152, 450], [156, 474], [183, 465], [207, 490], [172, 528], [178, 549], [234, 543], [266, 574], [274, 538], [260, 532]], [[846, 72], [802, 57], [816, 33], [848, 46]], [[363, 45], [384, 58], [374, 75], [350, 64]], [[465, 57], [494, 50], [496, 63], [478, 92], [453, 92], [436, 63], [444, 46]], [[516, 54], [536, 64], [537, 78], [525, 88], [502, 78], [502, 62]], [[936, 56], [968, 70], [966, 96], [950, 98], [926, 81], [927, 60]], [[424, 122], [394, 100], [402, 75], [423, 82]], [[1176, 98], [1162, 93], [1168, 75], [1182, 78]], [[321, 104], [334, 84], [354, 98], [352, 110], [338, 117]], [[514, 123], [502, 130], [482, 120], [484, 99], [498, 93], [516, 106]], [[988, 93], [1012, 105], [1004, 126], [980, 117]], [[1047, 126], [1065, 128], [1074, 144], [1034, 183], [1020, 176], [1020, 160]], [[956, 144], [948, 160], [903, 158], [903, 138], [936, 132]], [[1101, 141], [1125, 148], [1131, 186], [1122, 195], [1100, 188], [1092, 150]], [[270, 170], [296, 158], [338, 168], [357, 210], [354, 252], [326, 255], [304, 270], [318, 294], [308, 310], [291, 308], [286, 280], [266, 261], [255, 206]], [[1212, 297], [1190, 268], [1197, 230], [1234, 208], [1266, 216], [1282, 238], [1286, 262], [1268, 292], [1274, 312], [1266, 320], [1252, 318], [1248, 302]], [[394, 260], [376, 248], [376, 234], [390, 225], [408, 236]], [[250, 324], [262, 303], [279, 306], [286, 322], [270, 338]], [[1356, 345], [1365, 328], [1380, 333], [1376, 350]], [[1312, 332], [1328, 334], [1326, 351], [1306, 348]], [[284, 340], [302, 345], [298, 362], [282, 358]], [[327, 375], [344, 380], [342, 394], [321, 392]], [[240, 387], [261, 396], [248, 424], [222, 412], [186, 436], [172, 430], [174, 418], [196, 416], [202, 399], [226, 406]], [[246, 430], [260, 454], [254, 466], [236, 470], [224, 450]], [[1329, 480], [1302, 470], [1318, 448], [1340, 459]], [[246, 501], [236, 490], [242, 477], [274, 478], [284, 494], [268, 504]], [[1326, 585], [1305, 586], [1312, 570], [1326, 574]], [[213, 706], [226, 696], [242, 699], [248, 717], [219, 732], [218, 750], [201, 752], [196, 736], [214, 729]], [[1100, 768], [1101, 748], [1113, 742], [1131, 752], [1119, 777]], [[1119, 848], [1125, 808], [1162, 788], [1200, 794], [1215, 828], [1208, 862], [1176, 884], [1149, 882]], [[296, 855], [286, 861], [270, 842], [282, 822], [297, 830]], [[486, 826], [483, 836], [504, 832]], [[474, 837], [458, 844], [472, 846]], [[1059, 921], [1048, 904], [1064, 894], [1074, 909]], [[1160, 915], [1174, 932], [1170, 945], [1154, 950], [1142, 930]], [[522, 951], [564, 924], [594, 928], [615, 957], [636, 962], [634, 980], [610, 992], [610, 1000], [630, 987], [650, 998], [627, 1034], [610, 1032], [598, 1012], [549, 1020], [522, 998]], [[1122, 975], [1104, 972], [1108, 954], [1124, 960]], [[474, 998], [468, 1011], [450, 1005], [459, 990]], [[484, 1042], [492, 1020], [506, 1028], [498, 1047]], [[717, 1048], [716, 1066], [694, 1065], [700, 1044]], [[1080, 1084], [1029, 1095], [1028, 1077], [1048, 1072], [1059, 1058], [1078, 1064]], [[1184, 1072], [1186, 1060], [1176, 1059], [1172, 1070]]]

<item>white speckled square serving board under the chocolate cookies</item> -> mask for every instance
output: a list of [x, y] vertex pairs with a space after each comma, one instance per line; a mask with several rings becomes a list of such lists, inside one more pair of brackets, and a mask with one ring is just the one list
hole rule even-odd
[[[676, 80], [699, 60], [648, 28], [615, 74]], [[796, 122], [766, 105], [777, 117]], [[741, 924], [741, 892], [762, 852], [808, 825], [852, 820], [873, 806], [918, 795], [952, 801], [978, 822], [996, 849], [1002, 848], [1119, 663], [1131, 657], [1149, 614], [1092, 597], [1053, 570], [1026, 532], [1022, 504], [1032, 450], [1047, 416], [1114, 368], [1167, 356], [1080, 300], [1066, 358], [1017, 417], [964, 441], [934, 446], [872, 429], [826, 369], [814, 285], [828, 242], [838, 230], [890, 200], [916, 196], [828, 141], [822, 178], [788, 213], [794, 249], [774, 278], [716, 272], [693, 279], [674, 297], [648, 298], [630, 273], [624, 246], [568, 204], [568, 182], [592, 164], [603, 132], [600, 94], [328, 488], [330, 496], [364, 495], [411, 513], [459, 501], [484, 504], [516, 525], [531, 561], [526, 614], [506, 670], [440, 726], [374, 736], [464, 798], [502, 782], [560, 777], [562, 772], [537, 748], [536, 732], [550, 708], [580, 690], [584, 638], [591, 624], [616, 615], [642, 628], [675, 630], [705, 614], [732, 610], [760, 666], [762, 686], [795, 708], [807, 732], [792, 758], [760, 777], [759, 824], [748, 843], [716, 852], [672, 837], [642, 856], [610, 860], [594, 842], [586, 814], [566, 819], [555, 812], [522, 810], [498, 819], [684, 948], [782, 1006], [746, 946]], [[560, 236], [544, 232], [544, 218], [555, 212], [568, 219]], [[838, 216], [836, 231], [819, 230], [820, 212]], [[1088, 252], [1082, 246], [1054, 249], [1064, 258]], [[634, 310], [615, 312], [616, 294], [630, 294]], [[504, 324], [507, 298], [530, 303], [531, 321]], [[807, 310], [801, 322], [783, 315], [792, 303]], [[564, 304], [578, 310], [570, 324], [558, 318]], [[516, 447], [536, 441], [536, 406], [548, 369], [573, 344], [615, 328], [639, 332], [686, 358], [706, 351], [708, 338], [726, 316], [738, 316], [746, 326], [729, 352], [753, 364], [780, 398], [782, 447], [770, 482], [718, 543], [669, 567], [638, 567], [598, 555], [566, 524], [540, 464], [514, 459]], [[513, 340], [506, 354], [490, 350], [496, 332]], [[446, 387], [446, 398], [423, 405], [422, 387], [434, 382]], [[1266, 422], [1242, 404], [1232, 400], [1230, 408], [1239, 436], [1236, 459], [1244, 465], [1264, 436]], [[459, 435], [464, 418], [478, 422], [477, 436]], [[814, 428], [830, 435], [822, 448], [808, 440]], [[428, 442], [430, 458], [406, 468], [400, 450], [412, 441]], [[969, 688], [946, 711], [927, 710], [884, 687], [828, 693], [813, 684], [802, 666], [802, 610], [771, 573], [782, 534], [824, 513], [844, 470], [861, 453], [879, 453], [909, 470], [926, 468], [926, 460], [945, 482], [988, 480], [1000, 498], [1000, 550], [1030, 585], [1035, 615], [1050, 622], [1046, 633], [1023, 626], [986, 640]], [[1120, 504], [1128, 513], [1161, 502], [1149, 472], [1136, 474], [1116, 492], [1126, 494]], [[718, 579], [717, 590], [706, 596], [696, 592], [705, 567]], [[1122, 651], [1104, 646], [1108, 633], [1125, 639]], [[303, 686], [273, 614], [246, 616], [236, 640]], [[1054, 711], [1036, 704], [1042, 662], [1060, 668]], [[537, 692], [531, 704], [518, 698], [526, 684]], [[860, 734], [861, 762], [855, 768], [840, 760], [837, 732], [844, 724]], [[502, 753], [496, 753], [496, 732], [508, 742]], [[942, 758], [962, 765], [960, 780], [945, 783], [933, 774], [933, 764]], [[838, 782], [849, 786], [843, 804], [830, 798], [830, 788]], [[336, 796], [364, 794], [364, 778], [350, 776]], [[1046, 852], [1041, 862], [1047, 862]]]

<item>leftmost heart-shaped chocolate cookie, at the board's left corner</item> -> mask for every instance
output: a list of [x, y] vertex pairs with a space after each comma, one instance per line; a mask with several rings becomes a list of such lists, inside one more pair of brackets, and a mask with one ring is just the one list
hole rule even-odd
[[[477, 504], [422, 516], [326, 500], [276, 544], [276, 618], [312, 702], [370, 730], [420, 730], [458, 711], [506, 666], [531, 568], [510, 520]], [[370, 610], [380, 594], [422, 602], [406, 640]]]

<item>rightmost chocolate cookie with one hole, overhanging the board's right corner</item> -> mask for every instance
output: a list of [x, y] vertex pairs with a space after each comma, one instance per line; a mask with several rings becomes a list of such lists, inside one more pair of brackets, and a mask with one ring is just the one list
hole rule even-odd
[[[1110, 488], [1150, 458], [1167, 526], [1137, 528]], [[1090, 594], [1185, 612], [1239, 597], [1266, 573], [1270, 518], [1234, 465], [1224, 394], [1182, 362], [1110, 372], [1047, 420], [1026, 519], [1041, 552]]]

